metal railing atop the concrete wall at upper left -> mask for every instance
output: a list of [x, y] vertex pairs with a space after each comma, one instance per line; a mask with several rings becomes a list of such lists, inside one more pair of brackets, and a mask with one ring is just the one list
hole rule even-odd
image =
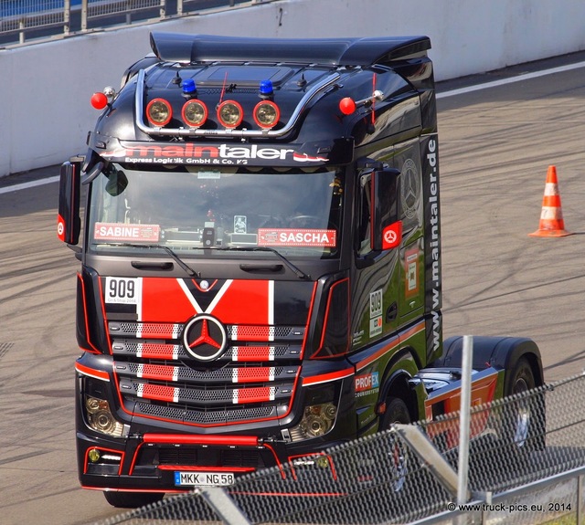
[[4, 0], [0, 47], [271, 0]]

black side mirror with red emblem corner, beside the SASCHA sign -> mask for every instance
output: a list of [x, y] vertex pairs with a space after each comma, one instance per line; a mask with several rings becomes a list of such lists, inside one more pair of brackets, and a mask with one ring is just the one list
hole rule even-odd
[[398, 247], [402, 242], [399, 220], [399, 175], [395, 169], [372, 173], [370, 231], [374, 251]]

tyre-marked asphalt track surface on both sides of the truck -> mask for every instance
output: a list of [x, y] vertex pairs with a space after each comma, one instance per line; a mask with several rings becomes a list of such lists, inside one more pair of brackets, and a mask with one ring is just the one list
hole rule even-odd
[[[531, 337], [548, 382], [585, 366], [584, 59], [439, 86], [444, 335]], [[580, 66], [535, 75], [570, 63]], [[538, 228], [549, 165], [571, 236], [528, 236]], [[120, 514], [77, 478], [80, 263], [56, 236], [58, 184], [29, 185], [57, 175], [52, 166], [0, 179], [3, 525], [80, 525]]]

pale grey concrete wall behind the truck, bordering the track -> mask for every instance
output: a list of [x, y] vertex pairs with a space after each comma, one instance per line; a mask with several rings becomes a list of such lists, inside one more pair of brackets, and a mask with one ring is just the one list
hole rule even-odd
[[90, 96], [120, 86], [151, 30], [267, 37], [428, 35], [436, 79], [585, 49], [583, 0], [280, 0], [0, 49], [0, 176], [85, 152]]

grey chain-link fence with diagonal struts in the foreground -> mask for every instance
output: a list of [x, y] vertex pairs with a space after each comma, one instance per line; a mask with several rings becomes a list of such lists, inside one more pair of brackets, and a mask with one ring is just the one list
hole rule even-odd
[[458, 523], [579, 523], [583, 399], [579, 375], [473, 408], [467, 505], [454, 503], [459, 418], [449, 415], [394, 425], [229, 488], [198, 488], [101, 525], [426, 524], [456, 515]]

